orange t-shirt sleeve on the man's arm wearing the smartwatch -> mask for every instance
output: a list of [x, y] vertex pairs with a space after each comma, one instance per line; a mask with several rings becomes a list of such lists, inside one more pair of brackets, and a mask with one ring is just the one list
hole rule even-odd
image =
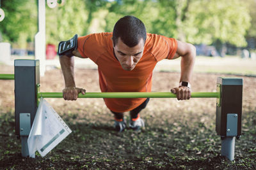
[[161, 35], [156, 35], [153, 39], [154, 45], [152, 52], [154, 53], [156, 60], [173, 59], [177, 51], [177, 40]]

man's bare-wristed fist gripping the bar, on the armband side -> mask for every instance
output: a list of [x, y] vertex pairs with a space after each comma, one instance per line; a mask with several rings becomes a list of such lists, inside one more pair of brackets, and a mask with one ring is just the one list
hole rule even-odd
[[65, 89], [62, 90], [62, 92], [63, 98], [66, 101], [76, 101], [78, 94], [85, 94], [86, 90], [77, 87], [65, 87]]

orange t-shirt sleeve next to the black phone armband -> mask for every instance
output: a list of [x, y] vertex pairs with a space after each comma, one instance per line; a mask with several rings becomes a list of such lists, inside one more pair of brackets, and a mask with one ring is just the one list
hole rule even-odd
[[98, 46], [99, 42], [97, 41], [95, 34], [89, 34], [87, 36], [77, 38], [77, 50], [79, 53], [84, 58], [90, 58], [96, 64], [99, 57], [99, 50], [97, 50]]

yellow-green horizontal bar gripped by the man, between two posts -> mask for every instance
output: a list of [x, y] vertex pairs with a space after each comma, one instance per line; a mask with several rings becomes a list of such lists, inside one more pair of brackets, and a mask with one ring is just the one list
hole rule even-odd
[[[38, 98], [62, 98], [61, 92], [40, 92]], [[79, 98], [174, 98], [172, 92], [86, 92]], [[220, 92], [192, 92], [191, 97], [219, 98]]]

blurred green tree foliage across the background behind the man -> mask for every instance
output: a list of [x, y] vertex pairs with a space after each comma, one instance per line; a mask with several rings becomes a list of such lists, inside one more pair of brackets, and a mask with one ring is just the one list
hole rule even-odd
[[[244, 36], [256, 36], [253, 0], [77, 0], [63, 6], [46, 7], [46, 41], [57, 45], [74, 34], [111, 32], [124, 15], [134, 15], [147, 31], [188, 41], [216, 41], [245, 46]], [[4, 41], [33, 41], [37, 31], [36, 0], [2, 1], [6, 17], [0, 32]], [[250, 22], [252, 20], [252, 25]]]

